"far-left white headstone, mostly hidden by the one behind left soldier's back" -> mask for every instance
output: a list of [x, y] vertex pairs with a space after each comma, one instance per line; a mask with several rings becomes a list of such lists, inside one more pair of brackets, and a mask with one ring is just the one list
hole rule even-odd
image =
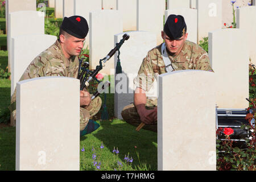
[[11, 71], [11, 38], [19, 35], [44, 34], [44, 13], [40, 11], [16, 11], [9, 13], [8, 26], [8, 68]]

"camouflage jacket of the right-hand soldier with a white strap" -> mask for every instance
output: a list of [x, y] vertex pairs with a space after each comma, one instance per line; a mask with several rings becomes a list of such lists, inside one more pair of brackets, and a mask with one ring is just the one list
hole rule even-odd
[[[147, 56], [144, 57], [141, 68], [139, 68], [138, 76], [134, 78], [135, 86], [149, 91], [155, 77], [166, 73], [164, 69], [166, 65], [163, 61], [161, 46], [162, 44], [151, 49], [148, 51]], [[201, 69], [213, 72], [207, 52], [188, 40], [185, 40], [179, 55], [171, 56], [168, 54], [168, 57], [171, 60], [174, 71], [181, 69]]]

